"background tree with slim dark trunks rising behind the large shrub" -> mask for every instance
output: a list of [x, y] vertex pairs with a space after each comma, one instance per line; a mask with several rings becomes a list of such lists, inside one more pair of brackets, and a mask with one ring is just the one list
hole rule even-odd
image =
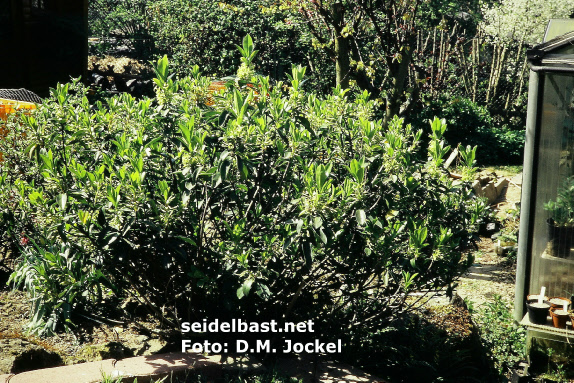
[[[427, 71], [413, 62], [417, 32], [453, 20], [463, 10], [474, 20], [478, 4], [422, 0], [311, 0], [293, 5], [314, 38], [335, 62], [337, 85], [351, 80], [384, 105], [384, 123], [418, 99]], [[439, 19], [437, 16], [442, 14]], [[432, 17], [430, 17], [432, 16]], [[472, 23], [471, 23], [472, 24]], [[435, 25], [436, 26], [436, 25]], [[415, 65], [416, 64], [416, 65]]]

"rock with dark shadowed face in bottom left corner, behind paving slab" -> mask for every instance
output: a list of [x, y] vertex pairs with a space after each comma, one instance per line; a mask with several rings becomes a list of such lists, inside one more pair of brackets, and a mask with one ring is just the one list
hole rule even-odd
[[0, 339], [0, 374], [16, 374], [64, 364], [54, 351], [24, 339]]

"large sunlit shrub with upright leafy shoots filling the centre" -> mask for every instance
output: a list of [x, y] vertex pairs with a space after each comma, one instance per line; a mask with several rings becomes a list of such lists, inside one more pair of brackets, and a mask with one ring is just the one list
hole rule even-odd
[[[90, 105], [80, 84], [59, 85], [8, 123], [0, 226], [34, 240], [12, 280], [38, 298], [37, 331], [103, 292], [173, 328], [314, 319], [356, 342], [471, 263], [461, 250], [483, 203], [441, 170], [442, 121], [426, 150], [401, 119], [370, 120], [366, 93], [304, 92], [304, 68], [288, 91], [228, 83], [213, 106], [209, 79], [192, 72], [174, 80], [159, 60], [157, 98], [140, 101]], [[47, 253], [60, 282], [40, 287], [47, 277], [29, 270]]]

